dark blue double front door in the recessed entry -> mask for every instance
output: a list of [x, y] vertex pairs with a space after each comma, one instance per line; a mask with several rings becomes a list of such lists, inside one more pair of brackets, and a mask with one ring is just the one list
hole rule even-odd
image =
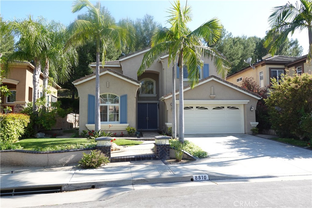
[[138, 129], [157, 130], [157, 103], [138, 103]]

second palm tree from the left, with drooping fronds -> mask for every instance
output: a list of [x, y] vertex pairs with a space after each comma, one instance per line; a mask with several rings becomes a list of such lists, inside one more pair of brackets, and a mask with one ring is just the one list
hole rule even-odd
[[68, 45], [65, 47], [69, 39], [66, 33], [66, 27], [60, 22], [46, 22], [45, 24], [48, 36], [50, 38], [49, 47], [43, 51], [43, 90], [42, 97], [46, 99], [47, 104], [47, 87], [50, 70], [52, 70], [53, 80], [61, 83], [66, 82], [70, 78], [72, 64], [78, 62], [78, 54], [76, 49]]

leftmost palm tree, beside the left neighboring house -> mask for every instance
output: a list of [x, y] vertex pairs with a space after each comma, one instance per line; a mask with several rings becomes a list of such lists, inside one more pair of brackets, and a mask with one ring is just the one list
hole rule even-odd
[[34, 65], [32, 78], [33, 96], [32, 108], [33, 112], [37, 113], [36, 100], [39, 92], [39, 76], [41, 73], [41, 58], [45, 48], [49, 47], [50, 39], [47, 36], [47, 31], [42, 25], [41, 19], [33, 20], [31, 16], [25, 20], [13, 20], [9, 22], [10, 30], [15, 36], [19, 36], [20, 50], [14, 51], [7, 57], [4, 65], [6, 73], [9, 71], [10, 65], [15, 61], [30, 60]]

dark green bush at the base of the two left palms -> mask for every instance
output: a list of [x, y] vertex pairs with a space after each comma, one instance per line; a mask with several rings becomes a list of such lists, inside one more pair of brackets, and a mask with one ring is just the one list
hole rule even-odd
[[29, 137], [37, 133], [35, 132], [35, 125], [38, 126], [38, 131], [42, 129], [51, 129], [56, 124], [57, 117], [64, 118], [72, 111], [72, 109], [62, 109], [59, 101], [49, 103], [51, 104], [51, 107], [46, 108], [45, 110], [45, 103], [46, 101], [43, 97], [37, 99], [36, 105], [38, 106], [38, 115], [34, 114], [32, 111], [32, 102], [27, 103], [25, 108], [21, 111], [21, 113], [30, 116], [30, 123], [24, 134], [25, 137]]

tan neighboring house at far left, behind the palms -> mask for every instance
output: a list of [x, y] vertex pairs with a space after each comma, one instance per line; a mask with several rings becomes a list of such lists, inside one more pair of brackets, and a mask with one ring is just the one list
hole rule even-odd
[[[1, 66], [2, 67], [2, 66]], [[28, 102], [32, 102], [33, 85], [32, 76], [34, 66], [29, 62], [17, 61], [10, 67], [10, 72], [5, 79], [2, 80], [2, 85], [6, 85], [12, 92], [10, 96], [1, 97], [2, 106], [12, 107], [12, 112], [20, 112]], [[42, 96], [43, 74], [40, 74], [39, 79], [39, 97]], [[61, 89], [59, 85], [56, 87], [49, 86], [51, 91], [48, 94], [49, 102], [57, 101], [57, 90]]]

